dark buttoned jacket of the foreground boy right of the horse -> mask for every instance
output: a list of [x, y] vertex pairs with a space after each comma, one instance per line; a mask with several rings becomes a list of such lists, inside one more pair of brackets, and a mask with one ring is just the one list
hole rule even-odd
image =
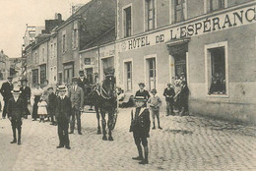
[[148, 108], [135, 108], [132, 110], [134, 116], [133, 132], [148, 136], [151, 128], [150, 111]]

